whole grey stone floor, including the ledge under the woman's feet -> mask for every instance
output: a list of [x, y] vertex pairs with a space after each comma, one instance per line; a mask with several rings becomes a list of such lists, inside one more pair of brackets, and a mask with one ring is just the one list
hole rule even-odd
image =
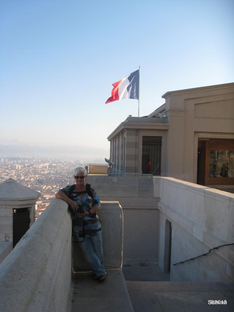
[[152, 265], [107, 272], [103, 283], [92, 280], [91, 272], [73, 276], [69, 312], [234, 311], [234, 283], [170, 282], [168, 273]]

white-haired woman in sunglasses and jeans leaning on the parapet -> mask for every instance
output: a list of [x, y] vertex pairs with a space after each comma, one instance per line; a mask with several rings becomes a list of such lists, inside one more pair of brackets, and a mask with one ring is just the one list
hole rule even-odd
[[67, 202], [73, 210], [73, 234], [93, 271], [93, 279], [102, 282], [107, 274], [103, 266], [102, 230], [97, 214], [100, 201], [94, 189], [86, 189], [87, 171], [84, 167], [77, 167], [73, 177], [76, 184], [60, 189], [55, 197]]

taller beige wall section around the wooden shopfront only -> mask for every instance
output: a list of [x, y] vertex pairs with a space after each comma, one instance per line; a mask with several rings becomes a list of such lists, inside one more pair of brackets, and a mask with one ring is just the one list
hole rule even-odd
[[196, 133], [205, 133], [206, 138], [234, 139], [233, 91], [231, 86], [172, 93], [166, 98], [169, 120], [166, 176], [197, 182]]

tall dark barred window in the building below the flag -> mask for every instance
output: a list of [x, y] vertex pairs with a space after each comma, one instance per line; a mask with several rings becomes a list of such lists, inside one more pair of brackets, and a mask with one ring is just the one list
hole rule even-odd
[[161, 174], [161, 137], [142, 137], [142, 173]]

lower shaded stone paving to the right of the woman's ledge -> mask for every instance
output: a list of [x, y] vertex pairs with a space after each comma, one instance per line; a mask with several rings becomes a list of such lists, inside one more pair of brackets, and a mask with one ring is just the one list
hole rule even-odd
[[123, 273], [134, 312], [234, 311], [234, 283], [170, 282], [158, 266], [124, 266]]

